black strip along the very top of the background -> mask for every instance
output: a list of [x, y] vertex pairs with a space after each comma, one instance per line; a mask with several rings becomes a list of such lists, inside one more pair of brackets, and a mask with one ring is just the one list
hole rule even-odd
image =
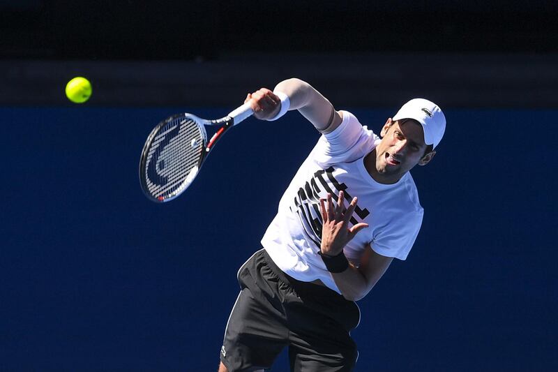
[[8, 57], [187, 59], [230, 50], [556, 52], [558, 3], [4, 0]]

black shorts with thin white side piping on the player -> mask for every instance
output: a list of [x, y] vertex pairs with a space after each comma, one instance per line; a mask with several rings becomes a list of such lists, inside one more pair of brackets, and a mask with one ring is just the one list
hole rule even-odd
[[292, 371], [351, 371], [359, 353], [349, 332], [359, 306], [323, 285], [282, 272], [264, 249], [239, 270], [221, 362], [229, 372], [269, 369], [289, 346]]

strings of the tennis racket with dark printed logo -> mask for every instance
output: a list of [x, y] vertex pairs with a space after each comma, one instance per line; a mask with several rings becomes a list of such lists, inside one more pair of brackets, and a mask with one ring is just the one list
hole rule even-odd
[[203, 155], [204, 140], [203, 129], [192, 119], [176, 118], [160, 128], [149, 149], [145, 168], [146, 186], [154, 198], [168, 198], [193, 181]]

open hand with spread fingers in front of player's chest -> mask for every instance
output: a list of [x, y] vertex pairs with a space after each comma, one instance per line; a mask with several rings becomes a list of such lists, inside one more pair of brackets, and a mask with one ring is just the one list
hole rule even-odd
[[349, 207], [344, 211], [345, 193], [340, 191], [337, 200], [337, 207], [333, 207], [331, 194], [327, 194], [326, 200], [320, 199], [320, 210], [322, 211], [322, 254], [338, 255], [357, 232], [363, 228], [368, 228], [368, 223], [357, 223], [349, 228], [349, 219], [351, 218], [356, 207], [356, 198], [353, 198]]

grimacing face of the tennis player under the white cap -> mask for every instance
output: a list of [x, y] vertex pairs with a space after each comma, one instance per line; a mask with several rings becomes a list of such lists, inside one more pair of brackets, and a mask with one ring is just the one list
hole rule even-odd
[[414, 120], [388, 119], [382, 128], [382, 142], [376, 147], [375, 179], [383, 184], [393, 184], [415, 165], [425, 165], [435, 151], [424, 154], [427, 145], [421, 124]]

